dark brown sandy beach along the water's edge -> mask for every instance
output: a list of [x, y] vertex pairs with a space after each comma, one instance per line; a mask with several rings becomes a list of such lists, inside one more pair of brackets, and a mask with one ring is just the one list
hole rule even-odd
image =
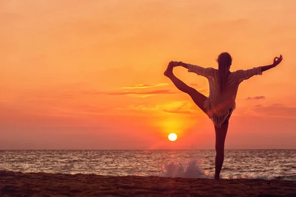
[[0, 197], [296, 197], [296, 181], [0, 171]]

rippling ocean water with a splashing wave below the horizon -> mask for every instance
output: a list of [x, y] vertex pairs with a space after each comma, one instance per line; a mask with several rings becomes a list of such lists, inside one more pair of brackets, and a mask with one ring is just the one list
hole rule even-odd
[[[0, 170], [212, 179], [215, 150], [0, 150]], [[296, 150], [225, 150], [221, 177], [296, 180]]]

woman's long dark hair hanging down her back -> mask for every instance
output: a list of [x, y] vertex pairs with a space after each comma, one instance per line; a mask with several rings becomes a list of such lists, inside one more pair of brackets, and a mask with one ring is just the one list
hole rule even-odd
[[220, 92], [222, 93], [225, 87], [225, 83], [227, 81], [226, 74], [227, 74], [227, 70], [229, 69], [232, 63], [232, 58], [229, 55], [229, 53], [224, 52], [218, 56], [217, 62], [218, 62], [218, 71], [219, 71]]

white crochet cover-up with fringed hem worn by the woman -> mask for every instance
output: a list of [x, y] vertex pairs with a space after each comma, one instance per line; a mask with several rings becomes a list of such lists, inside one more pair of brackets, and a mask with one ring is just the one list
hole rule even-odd
[[239, 84], [254, 75], [261, 75], [261, 66], [247, 70], [236, 70], [231, 72], [225, 83], [223, 92], [220, 91], [219, 71], [212, 67], [201, 67], [187, 64], [188, 72], [204, 76], [209, 81], [210, 94], [204, 101], [204, 108], [209, 118], [218, 128], [226, 120], [228, 115], [235, 109], [235, 99]]

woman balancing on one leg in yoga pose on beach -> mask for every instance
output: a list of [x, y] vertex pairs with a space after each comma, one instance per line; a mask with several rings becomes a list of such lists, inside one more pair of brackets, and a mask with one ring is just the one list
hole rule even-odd
[[[165, 70], [164, 75], [171, 79], [179, 90], [187, 93], [195, 104], [205, 112], [214, 123], [216, 132], [215, 179], [220, 178], [220, 172], [224, 161], [224, 142], [228, 129], [228, 120], [235, 109], [235, 99], [239, 84], [254, 75], [261, 75], [263, 71], [277, 66], [282, 60], [283, 57], [280, 55], [279, 58], [274, 58], [272, 65], [231, 72], [230, 66], [232, 58], [225, 52], [218, 56], [218, 69], [171, 61]], [[206, 77], [210, 85], [209, 97], [207, 98], [178, 79], [173, 74], [173, 67], [175, 66], [183, 66], [188, 69], [188, 72], [194, 72]]]

